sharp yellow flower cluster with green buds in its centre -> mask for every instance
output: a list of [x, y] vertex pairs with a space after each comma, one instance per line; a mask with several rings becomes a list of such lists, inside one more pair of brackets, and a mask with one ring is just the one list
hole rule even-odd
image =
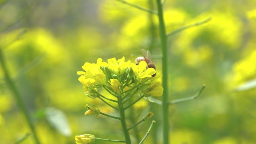
[[141, 61], [139, 64], [125, 62], [125, 58], [116, 60], [108, 59], [103, 62], [98, 58], [97, 63], [88, 63], [82, 66], [84, 71], [77, 71], [81, 75], [79, 81], [82, 83], [85, 94], [96, 98], [98, 88], [104, 87], [115, 93], [122, 94], [124, 90], [136, 86], [145, 97], [161, 96], [163, 88], [158, 80], [160, 75], [152, 77], [156, 73], [154, 68], [147, 68], [147, 63]]

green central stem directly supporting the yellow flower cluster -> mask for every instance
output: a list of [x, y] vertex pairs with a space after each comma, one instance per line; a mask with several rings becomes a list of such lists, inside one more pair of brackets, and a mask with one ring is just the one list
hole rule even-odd
[[122, 96], [118, 96], [118, 106], [119, 106], [119, 112], [120, 112], [120, 117], [121, 117], [121, 124], [122, 124], [122, 129], [124, 131], [124, 136], [125, 136], [125, 143], [126, 144], [131, 144], [131, 138], [127, 129], [126, 121], [125, 121], [125, 110], [124, 110], [124, 105], [122, 103]]

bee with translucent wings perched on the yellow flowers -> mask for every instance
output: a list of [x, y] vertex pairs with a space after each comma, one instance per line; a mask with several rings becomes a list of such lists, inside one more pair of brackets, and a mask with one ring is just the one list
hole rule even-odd
[[[152, 55], [151, 53], [149, 52], [149, 50], [144, 50], [144, 49], [141, 49], [141, 52], [143, 54], [143, 56], [140, 56], [138, 58], [135, 59], [135, 62], [138, 63], [141, 62], [141, 61], [145, 61], [147, 63], [147, 68], [154, 68], [156, 70], [156, 65], [154, 64], [153, 62], [153, 58], [152, 58]], [[156, 73], [152, 75], [152, 77], [156, 76]]]

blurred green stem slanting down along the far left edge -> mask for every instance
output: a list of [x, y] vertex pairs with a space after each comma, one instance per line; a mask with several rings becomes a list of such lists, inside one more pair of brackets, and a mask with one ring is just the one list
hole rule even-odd
[[12, 79], [9, 76], [6, 64], [4, 62], [3, 51], [2, 51], [1, 48], [0, 48], [0, 63], [1, 63], [1, 67], [2, 67], [2, 70], [3, 70], [3, 73], [4, 73], [4, 77], [5, 77], [6, 83], [9, 86], [9, 89], [12, 91], [13, 95], [15, 96], [15, 99], [16, 99], [16, 101], [18, 103], [19, 108], [21, 109], [21, 111], [25, 115], [25, 119], [28, 122], [28, 125], [30, 127], [31, 132], [33, 133], [34, 140], [35, 140], [36, 144], [40, 144], [40, 142], [39, 142], [39, 140], [37, 138], [36, 130], [35, 130], [34, 125], [33, 125], [33, 120], [31, 119], [31, 117], [30, 117], [30, 115], [28, 113], [28, 110], [25, 107], [24, 102], [22, 101], [22, 98], [21, 98], [21, 95], [19, 94], [18, 89], [16, 88], [16, 86], [14, 85]]

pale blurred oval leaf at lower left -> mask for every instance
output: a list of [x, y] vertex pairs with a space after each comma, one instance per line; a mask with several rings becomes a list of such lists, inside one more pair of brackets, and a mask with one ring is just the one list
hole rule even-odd
[[63, 111], [54, 107], [48, 107], [45, 110], [45, 116], [52, 127], [54, 127], [60, 134], [69, 137], [71, 129], [68, 124], [67, 117]]

